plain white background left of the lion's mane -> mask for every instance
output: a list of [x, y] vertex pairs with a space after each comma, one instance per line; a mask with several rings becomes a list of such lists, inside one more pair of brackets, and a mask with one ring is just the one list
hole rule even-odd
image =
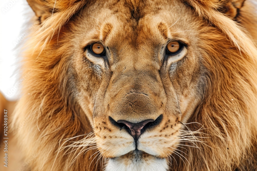
[[17, 45], [28, 34], [26, 23], [33, 11], [26, 0], [1, 0], [0, 7], [0, 91], [8, 100], [15, 100], [21, 89]]

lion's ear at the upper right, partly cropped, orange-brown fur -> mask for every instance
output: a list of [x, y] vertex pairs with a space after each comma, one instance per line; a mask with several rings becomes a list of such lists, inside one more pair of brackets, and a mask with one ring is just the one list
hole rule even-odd
[[239, 9], [243, 6], [245, 0], [230, 0], [223, 6], [223, 13], [234, 18], [239, 13]]

